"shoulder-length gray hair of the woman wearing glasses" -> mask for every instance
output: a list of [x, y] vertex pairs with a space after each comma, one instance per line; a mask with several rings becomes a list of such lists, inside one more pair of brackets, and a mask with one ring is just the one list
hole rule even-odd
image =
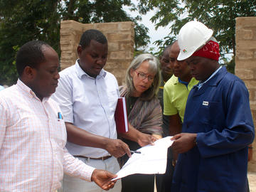
[[138, 55], [134, 60], [132, 60], [132, 63], [129, 65], [129, 68], [127, 69], [127, 75], [126, 75], [126, 84], [127, 84], [127, 95], [132, 96], [132, 93], [135, 91], [135, 87], [132, 81], [132, 76], [130, 74], [130, 70], [137, 70], [139, 66], [144, 61], [149, 62], [149, 72], [150, 73], [156, 73], [154, 76], [154, 81], [151, 84], [151, 87], [149, 87], [148, 90], [142, 93], [140, 96], [141, 100], [151, 100], [152, 98], [156, 97], [158, 91], [159, 91], [159, 84], [160, 84], [160, 69], [159, 69], [159, 60], [149, 53], [144, 53], [141, 55]]

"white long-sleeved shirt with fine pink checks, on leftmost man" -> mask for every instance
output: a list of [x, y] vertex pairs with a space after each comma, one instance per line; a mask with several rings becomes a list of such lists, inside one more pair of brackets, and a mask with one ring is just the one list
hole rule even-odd
[[0, 92], [0, 191], [55, 191], [63, 171], [90, 181], [94, 168], [68, 154], [60, 108], [21, 80]]

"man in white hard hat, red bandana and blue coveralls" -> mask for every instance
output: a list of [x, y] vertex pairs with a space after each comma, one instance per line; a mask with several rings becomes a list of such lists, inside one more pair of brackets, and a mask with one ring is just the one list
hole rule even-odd
[[198, 85], [188, 95], [171, 192], [245, 192], [247, 151], [254, 139], [249, 93], [244, 82], [218, 64], [213, 31], [190, 21], [178, 33], [181, 51]]

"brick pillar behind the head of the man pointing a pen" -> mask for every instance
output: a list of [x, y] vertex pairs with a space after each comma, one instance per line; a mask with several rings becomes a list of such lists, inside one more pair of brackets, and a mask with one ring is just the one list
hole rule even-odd
[[82, 33], [88, 29], [101, 31], [108, 41], [108, 60], [105, 70], [113, 73], [119, 85], [124, 84], [125, 72], [134, 55], [134, 23], [78, 23], [61, 21], [60, 23], [60, 66], [61, 70], [75, 64], [78, 58], [77, 47]]

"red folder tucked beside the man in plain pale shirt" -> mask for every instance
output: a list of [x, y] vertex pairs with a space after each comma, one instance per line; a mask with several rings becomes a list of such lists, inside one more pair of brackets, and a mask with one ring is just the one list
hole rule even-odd
[[117, 108], [114, 112], [114, 120], [116, 122], [117, 133], [128, 132], [127, 108], [124, 97], [119, 97]]

